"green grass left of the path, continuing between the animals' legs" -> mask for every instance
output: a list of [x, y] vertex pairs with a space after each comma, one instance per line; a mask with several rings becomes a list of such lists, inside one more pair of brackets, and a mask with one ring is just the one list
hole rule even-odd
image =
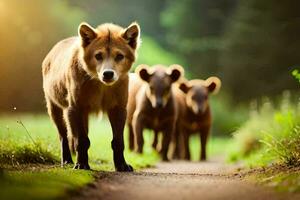
[[[146, 131], [144, 136], [146, 144], [143, 155], [125, 150], [127, 162], [136, 170], [153, 166], [160, 160], [151, 148], [153, 134]], [[113, 171], [112, 134], [107, 119], [92, 117], [89, 137], [91, 168]], [[213, 156], [224, 152], [229, 145], [229, 140], [210, 138], [208, 154]], [[125, 146], [128, 146], [127, 135]], [[192, 138], [191, 147], [192, 159], [198, 160], [199, 138]], [[0, 116], [0, 199], [63, 198], [67, 191], [77, 190], [94, 180], [95, 172], [72, 170], [72, 166], [61, 168], [59, 160], [58, 135], [47, 115]], [[5, 170], [1, 171], [1, 168]]]

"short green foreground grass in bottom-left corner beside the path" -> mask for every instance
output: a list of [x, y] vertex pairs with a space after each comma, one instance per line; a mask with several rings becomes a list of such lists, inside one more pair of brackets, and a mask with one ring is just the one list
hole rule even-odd
[[93, 172], [72, 169], [4, 171], [0, 199], [39, 200], [65, 198], [94, 180]]

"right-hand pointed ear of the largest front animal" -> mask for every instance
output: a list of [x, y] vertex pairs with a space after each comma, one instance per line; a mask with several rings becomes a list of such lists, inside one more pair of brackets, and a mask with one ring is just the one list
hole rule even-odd
[[131, 23], [122, 34], [122, 37], [127, 41], [129, 46], [137, 49], [140, 45], [140, 26], [138, 23]]

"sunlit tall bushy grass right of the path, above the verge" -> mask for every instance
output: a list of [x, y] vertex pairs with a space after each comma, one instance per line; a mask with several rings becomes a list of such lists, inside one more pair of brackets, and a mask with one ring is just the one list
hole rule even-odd
[[250, 166], [270, 163], [299, 166], [299, 125], [299, 103], [290, 103], [287, 95], [276, 109], [266, 101], [234, 133], [238, 151], [232, 152], [231, 159], [245, 159]]

